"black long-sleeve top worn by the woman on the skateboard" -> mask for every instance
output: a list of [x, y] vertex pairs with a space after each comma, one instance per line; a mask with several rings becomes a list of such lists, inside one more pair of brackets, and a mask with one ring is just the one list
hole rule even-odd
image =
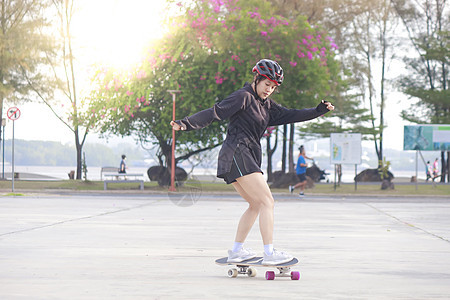
[[322, 102], [315, 108], [288, 109], [270, 98], [263, 101], [252, 86], [246, 83], [243, 88], [213, 107], [177, 120], [176, 123], [189, 131], [206, 127], [214, 120], [230, 120], [217, 165], [217, 176], [223, 178], [223, 175], [231, 169], [233, 155], [238, 145], [250, 149], [251, 155], [244, 159], [253, 159], [255, 166], [261, 171], [260, 140], [267, 127], [311, 120], [326, 112], [327, 106]]

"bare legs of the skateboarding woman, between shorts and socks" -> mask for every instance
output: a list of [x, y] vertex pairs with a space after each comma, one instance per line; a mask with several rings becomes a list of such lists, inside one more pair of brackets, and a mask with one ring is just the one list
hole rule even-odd
[[248, 202], [249, 207], [239, 221], [236, 242], [243, 243], [259, 215], [259, 228], [264, 245], [273, 243], [272, 193], [261, 173], [252, 173], [237, 179], [234, 188]]

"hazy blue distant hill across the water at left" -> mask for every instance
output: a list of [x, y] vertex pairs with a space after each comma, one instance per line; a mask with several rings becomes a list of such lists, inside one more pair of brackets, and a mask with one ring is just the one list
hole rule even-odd
[[[3, 145], [0, 145], [3, 147]], [[5, 141], [5, 164], [11, 163], [11, 140]], [[118, 166], [125, 154], [130, 165], [145, 159], [145, 151], [139, 146], [121, 144], [114, 148], [102, 144], [85, 144], [86, 164], [91, 167]], [[3, 149], [0, 151], [0, 163]], [[22, 166], [74, 166], [76, 150], [73, 145], [51, 141], [14, 141], [14, 163]]]

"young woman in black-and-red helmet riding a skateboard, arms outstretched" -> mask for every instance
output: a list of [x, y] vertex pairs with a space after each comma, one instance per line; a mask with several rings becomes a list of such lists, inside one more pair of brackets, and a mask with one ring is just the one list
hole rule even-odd
[[228, 251], [229, 262], [241, 262], [256, 256], [243, 247], [256, 218], [264, 243], [263, 264], [280, 264], [293, 256], [273, 248], [274, 199], [261, 171], [260, 139], [268, 126], [289, 124], [317, 118], [334, 106], [321, 101], [315, 108], [287, 109], [269, 98], [283, 82], [281, 66], [262, 59], [253, 68], [253, 83], [246, 83], [213, 107], [182, 120], [171, 121], [174, 130], [196, 130], [214, 120], [229, 119], [227, 136], [219, 152], [217, 176], [232, 184], [249, 206], [237, 228], [233, 248]]

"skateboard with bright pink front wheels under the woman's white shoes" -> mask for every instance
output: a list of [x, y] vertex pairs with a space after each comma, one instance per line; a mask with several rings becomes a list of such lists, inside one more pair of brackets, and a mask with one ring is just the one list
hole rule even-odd
[[227, 262], [227, 260], [228, 257], [216, 259], [216, 264], [221, 266], [234, 266], [233, 268], [228, 270], [228, 277], [230, 278], [235, 278], [239, 274], [244, 274], [247, 275], [248, 277], [255, 277], [257, 273], [255, 268], [265, 267], [265, 268], [277, 268], [279, 271], [279, 273], [275, 273], [274, 271], [267, 271], [265, 276], [267, 280], [274, 280], [275, 277], [290, 277], [292, 280], [300, 279], [300, 272], [291, 271], [291, 267], [298, 264], [297, 258], [293, 258], [291, 261], [279, 265], [263, 265], [262, 257], [255, 257], [238, 263], [229, 263]]

